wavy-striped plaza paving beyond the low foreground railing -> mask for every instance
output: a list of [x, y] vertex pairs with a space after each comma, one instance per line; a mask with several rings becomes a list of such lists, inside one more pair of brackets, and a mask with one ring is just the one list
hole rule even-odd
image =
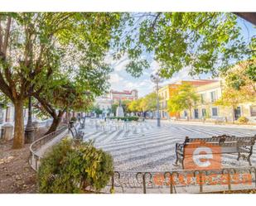
[[[255, 129], [230, 128], [218, 126], [200, 126], [162, 122], [156, 127], [155, 122], [141, 123], [136, 129], [124, 129], [104, 132], [95, 131], [88, 125], [85, 128], [85, 141], [94, 140], [94, 145], [108, 151], [114, 157], [115, 170], [176, 170], [181, 167], [172, 165], [176, 160], [175, 144], [183, 142], [185, 137], [212, 137], [219, 135], [237, 137], [254, 136]], [[235, 155], [224, 155], [222, 164], [225, 166], [247, 166], [245, 160], [236, 160]], [[251, 157], [256, 165], [256, 147]]]

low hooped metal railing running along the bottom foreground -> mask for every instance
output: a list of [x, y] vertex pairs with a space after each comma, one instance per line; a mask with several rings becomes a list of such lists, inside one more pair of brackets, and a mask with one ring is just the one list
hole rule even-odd
[[[219, 179], [218, 179], [219, 178]], [[212, 180], [210, 180], [212, 179]], [[207, 193], [256, 189], [256, 168], [220, 170], [171, 170], [166, 172], [115, 171], [108, 184], [110, 193]], [[108, 191], [106, 191], [108, 192]]]

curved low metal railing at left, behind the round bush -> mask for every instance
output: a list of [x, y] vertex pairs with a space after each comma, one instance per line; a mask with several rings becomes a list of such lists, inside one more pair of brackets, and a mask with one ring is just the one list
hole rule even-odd
[[56, 130], [55, 132], [51, 132], [50, 134], [47, 134], [46, 136], [41, 137], [40, 139], [31, 143], [29, 164], [34, 170], [38, 169], [38, 165], [41, 158], [41, 156], [36, 154], [36, 151], [38, 151], [42, 146], [46, 145], [47, 142], [53, 140], [55, 137], [57, 137], [61, 133], [66, 132], [67, 130], [67, 126], [60, 127], [60, 129]]

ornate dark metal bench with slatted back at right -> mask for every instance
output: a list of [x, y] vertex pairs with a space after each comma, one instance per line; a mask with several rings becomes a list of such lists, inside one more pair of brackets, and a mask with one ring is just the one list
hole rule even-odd
[[254, 137], [234, 137], [227, 135], [209, 138], [186, 137], [183, 143], [176, 143], [176, 162], [173, 165], [177, 165], [177, 163], [180, 162], [184, 169], [186, 149], [193, 146], [196, 147], [200, 143], [209, 143], [211, 146], [220, 146], [218, 154], [237, 154], [237, 160], [243, 157], [244, 160], [249, 162], [249, 165], [252, 165], [250, 157], [253, 155], [255, 141], [256, 135], [254, 135]]

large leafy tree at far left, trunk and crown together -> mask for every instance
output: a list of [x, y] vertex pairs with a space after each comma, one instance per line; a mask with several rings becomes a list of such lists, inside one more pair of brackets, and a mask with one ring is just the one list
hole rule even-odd
[[118, 24], [116, 13], [0, 14], [0, 89], [15, 107], [13, 148], [24, 144], [25, 100], [51, 74], [87, 75], [83, 68], [104, 59]]

